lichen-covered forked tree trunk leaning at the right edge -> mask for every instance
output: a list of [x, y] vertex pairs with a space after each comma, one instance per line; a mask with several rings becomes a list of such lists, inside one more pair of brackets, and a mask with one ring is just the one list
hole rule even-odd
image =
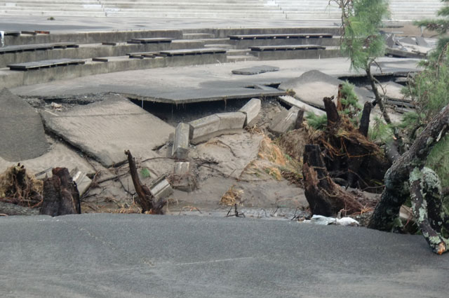
[[[431, 239], [434, 235], [429, 232], [429, 229], [435, 230], [436, 226], [429, 226], [427, 224], [423, 212], [425, 212], [426, 217], [435, 217], [438, 215], [438, 218], [430, 219], [438, 221], [441, 219], [439, 217], [442, 217], [441, 204], [435, 202], [421, 203], [427, 198], [424, 197], [424, 191], [420, 189], [420, 185], [432, 184], [431, 181], [423, 180], [422, 171], [427, 155], [434, 147], [434, 144], [447, 133], [448, 126], [449, 105], [442, 109], [427, 127], [424, 128], [420, 136], [413, 142], [410, 150], [391, 165], [391, 168], [385, 174], [385, 189], [382, 192], [381, 201], [377, 204], [373, 216], [370, 219], [370, 223], [368, 224], [369, 228], [382, 231], [395, 229], [396, 223], [398, 222], [399, 208], [410, 197], [410, 191], [412, 191], [412, 198], [415, 204], [415, 216], [418, 216], [417, 222], [420, 223], [422, 229], [427, 233], [428, 236], [426, 237], [423, 231], [423, 235], [427, 241], [429, 243], [432, 241]], [[433, 182], [433, 184], [437, 184], [437, 182]], [[439, 187], [441, 191], [441, 186]], [[425, 192], [428, 193], [429, 189], [426, 189]], [[438, 199], [441, 200], [441, 194], [438, 194]], [[425, 208], [426, 205], [427, 208]], [[448, 217], [444, 217], [443, 225], [449, 226]], [[438, 234], [438, 231], [435, 232]], [[440, 240], [438, 238], [438, 241]], [[443, 252], [440, 243], [438, 242], [438, 245], [431, 245], [435, 252]], [[445, 250], [446, 248], [444, 248]]]

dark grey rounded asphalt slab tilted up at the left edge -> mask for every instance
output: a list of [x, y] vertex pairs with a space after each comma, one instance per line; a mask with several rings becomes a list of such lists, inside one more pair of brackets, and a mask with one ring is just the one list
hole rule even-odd
[[8, 89], [0, 90], [0, 156], [23, 161], [45, 154], [50, 148], [39, 113]]

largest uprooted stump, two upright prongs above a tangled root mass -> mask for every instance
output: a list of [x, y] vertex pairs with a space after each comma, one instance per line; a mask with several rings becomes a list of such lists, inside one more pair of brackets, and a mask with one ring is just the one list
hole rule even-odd
[[339, 113], [345, 109], [340, 97], [337, 98], [337, 106], [333, 99], [323, 99], [328, 118], [326, 130], [316, 135], [312, 143], [321, 147], [324, 163], [335, 180], [346, 187], [377, 189], [377, 182], [382, 181], [390, 163], [380, 147], [367, 137], [372, 105], [366, 102], [361, 124], [356, 128], [349, 117]]

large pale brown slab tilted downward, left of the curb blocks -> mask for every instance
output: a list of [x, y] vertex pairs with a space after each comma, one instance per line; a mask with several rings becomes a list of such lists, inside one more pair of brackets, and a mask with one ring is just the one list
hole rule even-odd
[[119, 95], [65, 112], [41, 112], [48, 130], [109, 167], [126, 160], [129, 149], [141, 158], [159, 156], [173, 126]]

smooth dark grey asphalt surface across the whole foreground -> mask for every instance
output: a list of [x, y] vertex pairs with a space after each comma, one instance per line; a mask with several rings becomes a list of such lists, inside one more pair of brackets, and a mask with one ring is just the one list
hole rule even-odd
[[0, 217], [1, 297], [445, 297], [422, 236], [288, 220]]

